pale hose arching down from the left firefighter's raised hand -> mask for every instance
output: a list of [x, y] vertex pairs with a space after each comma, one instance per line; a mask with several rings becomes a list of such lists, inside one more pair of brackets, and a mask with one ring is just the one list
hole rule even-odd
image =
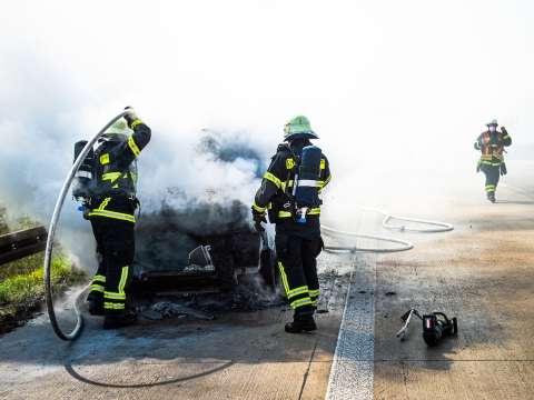
[[67, 176], [67, 179], [63, 182], [63, 187], [58, 197], [58, 201], [56, 202], [56, 207], [53, 209], [52, 219], [50, 221], [50, 227], [48, 229], [48, 240], [47, 240], [47, 248], [44, 250], [44, 291], [46, 291], [46, 299], [47, 299], [47, 311], [50, 318], [50, 323], [52, 326], [53, 331], [58, 336], [58, 338], [62, 340], [75, 340], [81, 333], [83, 328], [83, 318], [81, 317], [79, 307], [78, 307], [78, 299], [80, 298], [81, 293], [78, 296], [77, 301], [75, 301], [75, 313], [76, 313], [76, 326], [70, 333], [65, 333], [61, 328], [59, 327], [58, 319], [56, 317], [56, 312], [53, 310], [53, 294], [52, 294], [52, 283], [51, 283], [51, 261], [52, 261], [52, 250], [53, 250], [53, 238], [56, 236], [56, 229], [59, 222], [59, 217], [61, 216], [61, 209], [63, 208], [65, 199], [67, 198], [67, 193], [70, 190], [70, 186], [72, 180], [78, 172], [78, 168], [86, 159], [87, 154], [89, 153], [90, 149], [92, 149], [93, 144], [97, 140], [111, 127], [118, 119], [125, 116], [126, 111], [121, 112], [117, 117], [115, 117], [111, 121], [109, 121], [106, 127], [103, 127], [89, 142], [86, 144], [83, 150], [81, 150], [80, 154], [76, 159], [72, 168]]

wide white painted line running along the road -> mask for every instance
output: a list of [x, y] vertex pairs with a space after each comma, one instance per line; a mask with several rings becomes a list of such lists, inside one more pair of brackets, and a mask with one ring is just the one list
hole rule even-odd
[[375, 262], [357, 259], [350, 277], [327, 400], [373, 399], [375, 358]]

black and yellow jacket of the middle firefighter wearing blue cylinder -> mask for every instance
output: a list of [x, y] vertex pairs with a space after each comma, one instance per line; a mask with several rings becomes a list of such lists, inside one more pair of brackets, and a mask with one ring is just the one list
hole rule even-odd
[[[278, 146], [276, 154], [273, 157], [267, 172], [261, 180], [261, 187], [258, 189], [253, 208], [258, 212], [268, 210], [269, 221], [279, 224], [291, 226], [294, 213], [291, 212], [290, 193], [293, 191], [297, 160], [300, 157], [303, 148], [310, 146], [309, 140], [297, 139], [288, 143]], [[320, 160], [320, 180], [319, 193], [330, 181], [330, 168], [325, 154]], [[315, 221], [313, 226], [318, 224], [320, 216], [320, 206], [309, 210], [308, 220]]]

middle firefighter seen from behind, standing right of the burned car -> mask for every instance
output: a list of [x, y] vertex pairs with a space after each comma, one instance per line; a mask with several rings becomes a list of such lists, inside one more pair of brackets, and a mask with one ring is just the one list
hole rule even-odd
[[[298, 216], [294, 189], [303, 149], [309, 148], [310, 140], [318, 137], [304, 116], [291, 119], [285, 126], [284, 132], [284, 143], [278, 146], [271, 159], [251, 209], [257, 229], [263, 229], [260, 222], [266, 222], [266, 211], [269, 222], [276, 223], [278, 269], [286, 297], [294, 309], [294, 320], [286, 323], [285, 330], [299, 333], [317, 329], [314, 320], [319, 298], [316, 258], [323, 250], [323, 240], [320, 201], [307, 210], [306, 222], [301, 223], [299, 219], [303, 216]], [[314, 149], [319, 150], [315, 147]], [[330, 171], [324, 154], [319, 153], [318, 161], [320, 167], [317, 167], [317, 180], [307, 179], [303, 184], [308, 182], [307, 186], [315, 187], [316, 191], [320, 192], [330, 180]]]

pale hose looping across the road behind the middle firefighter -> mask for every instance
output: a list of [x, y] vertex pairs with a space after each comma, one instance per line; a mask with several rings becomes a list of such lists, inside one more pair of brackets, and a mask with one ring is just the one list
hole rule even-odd
[[[439, 232], [448, 232], [448, 231], [452, 231], [454, 229], [454, 227], [452, 224], [446, 223], [446, 222], [429, 221], [429, 220], [422, 220], [422, 219], [406, 218], [406, 217], [396, 217], [396, 216], [387, 213], [386, 211], [378, 210], [378, 209], [373, 209], [373, 208], [360, 207], [360, 209], [366, 210], [366, 211], [373, 211], [373, 212], [382, 213], [384, 216], [384, 220], [382, 221], [382, 226], [385, 229], [389, 229], [389, 230], [399, 230], [399, 231], [403, 231], [403, 232], [418, 232], [418, 233], [439, 233]], [[394, 224], [388, 223], [390, 220], [398, 220], [398, 221], [405, 221], [405, 222], [412, 222], [412, 223], [427, 224], [427, 226], [432, 226], [432, 227], [435, 227], [435, 228], [418, 229], [418, 228], [407, 228], [406, 226], [394, 226]], [[392, 252], [407, 251], [407, 250], [412, 250], [414, 248], [413, 243], [411, 243], [408, 241], [405, 241], [405, 240], [373, 236], [373, 234], [363, 234], [363, 233], [356, 233], [356, 232], [340, 231], [340, 230], [337, 230], [337, 229], [334, 229], [334, 228], [330, 228], [330, 227], [327, 227], [327, 226], [320, 226], [320, 228], [327, 236], [352, 237], [352, 238], [359, 238], [359, 239], [372, 239], [372, 240], [378, 240], [378, 241], [382, 241], [382, 242], [400, 244], [400, 247], [396, 247], [396, 248], [363, 248], [363, 247], [356, 247], [356, 246], [325, 246], [325, 250], [328, 251], [328, 252], [392, 253]]]

